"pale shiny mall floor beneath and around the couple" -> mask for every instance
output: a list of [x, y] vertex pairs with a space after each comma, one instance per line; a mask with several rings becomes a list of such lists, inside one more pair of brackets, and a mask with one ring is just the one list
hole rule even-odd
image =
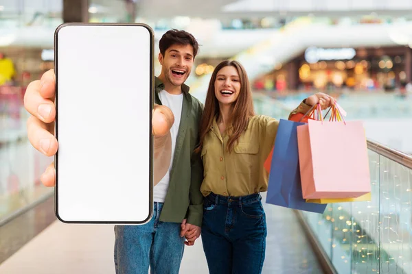
[[[0, 250], [7, 247], [9, 251], [1, 253], [2, 258], [40, 232], [47, 220], [54, 219], [53, 201], [48, 203], [36, 214], [27, 212], [27, 216], [0, 227]], [[323, 273], [295, 214], [271, 205], [265, 205], [265, 210], [268, 238], [263, 273]], [[0, 264], [0, 273], [113, 274], [113, 241], [112, 225], [65, 225], [56, 221]], [[180, 273], [208, 273], [201, 239], [194, 247], [186, 247]]]

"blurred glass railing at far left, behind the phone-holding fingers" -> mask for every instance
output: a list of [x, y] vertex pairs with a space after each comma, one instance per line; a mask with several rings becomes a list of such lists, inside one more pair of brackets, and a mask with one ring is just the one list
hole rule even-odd
[[52, 158], [36, 151], [27, 139], [23, 91], [0, 86], [0, 225], [54, 191], [39, 179]]

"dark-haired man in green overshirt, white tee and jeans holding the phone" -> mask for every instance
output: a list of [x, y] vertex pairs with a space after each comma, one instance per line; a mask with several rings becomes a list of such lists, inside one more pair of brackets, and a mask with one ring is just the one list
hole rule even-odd
[[[162, 70], [155, 82], [156, 105], [152, 119], [154, 214], [146, 225], [115, 227], [117, 273], [146, 274], [149, 266], [152, 273], [179, 273], [184, 245], [193, 245], [201, 234], [203, 165], [193, 151], [198, 144], [202, 105], [184, 84], [192, 71], [198, 43], [187, 32], [170, 30], [162, 36], [159, 48]], [[25, 94], [25, 108], [32, 114], [27, 122], [30, 142], [47, 156], [54, 155], [58, 147], [50, 127], [56, 115], [54, 85], [54, 72], [49, 71], [41, 82], [32, 82]], [[171, 155], [165, 155], [167, 144]], [[169, 158], [165, 169], [161, 163]], [[54, 186], [53, 166], [49, 166], [41, 179], [45, 186]]]

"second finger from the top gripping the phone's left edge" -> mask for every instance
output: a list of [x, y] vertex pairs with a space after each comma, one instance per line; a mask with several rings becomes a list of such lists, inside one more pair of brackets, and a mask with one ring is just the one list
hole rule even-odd
[[[53, 89], [54, 86], [49, 82], [44, 84], [47, 86], [46, 89]], [[24, 106], [25, 109], [30, 112], [33, 116], [40, 119], [45, 123], [52, 123], [56, 117], [56, 108], [54, 101], [47, 99], [41, 95], [41, 82], [34, 81], [27, 86], [27, 90], [24, 95]], [[47, 91], [45, 93], [51, 93]]]

